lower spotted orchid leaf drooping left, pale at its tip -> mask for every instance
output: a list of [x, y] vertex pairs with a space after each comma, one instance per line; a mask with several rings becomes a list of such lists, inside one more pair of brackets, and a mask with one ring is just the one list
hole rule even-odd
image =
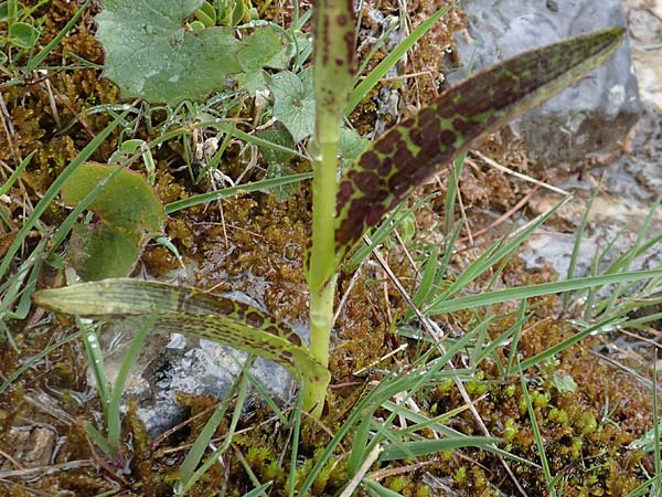
[[81, 283], [34, 294], [44, 308], [82, 317], [156, 318], [154, 330], [205, 338], [282, 366], [308, 384], [330, 373], [286, 322], [247, 304], [160, 282], [130, 278]]

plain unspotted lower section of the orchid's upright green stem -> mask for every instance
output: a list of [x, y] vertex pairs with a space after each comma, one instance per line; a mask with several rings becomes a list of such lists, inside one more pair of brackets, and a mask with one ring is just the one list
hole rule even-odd
[[[312, 179], [312, 247], [308, 283], [310, 286], [310, 352], [324, 367], [329, 364], [329, 340], [333, 324], [335, 295], [335, 192], [338, 142], [319, 144]], [[322, 413], [328, 384], [306, 385], [303, 409]]]

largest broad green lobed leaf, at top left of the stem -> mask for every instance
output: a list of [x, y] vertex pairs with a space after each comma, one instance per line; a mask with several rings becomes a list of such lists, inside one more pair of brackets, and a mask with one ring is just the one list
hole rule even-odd
[[241, 71], [231, 28], [193, 32], [184, 20], [202, 0], [106, 0], [96, 17], [106, 76], [126, 97], [175, 105], [222, 89]]

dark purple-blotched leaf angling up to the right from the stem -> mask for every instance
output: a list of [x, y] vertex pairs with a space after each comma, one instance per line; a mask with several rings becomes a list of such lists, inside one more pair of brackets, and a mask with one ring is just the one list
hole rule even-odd
[[338, 262], [440, 166], [584, 77], [613, 53], [622, 36], [622, 29], [607, 29], [510, 59], [448, 89], [382, 135], [340, 181]]

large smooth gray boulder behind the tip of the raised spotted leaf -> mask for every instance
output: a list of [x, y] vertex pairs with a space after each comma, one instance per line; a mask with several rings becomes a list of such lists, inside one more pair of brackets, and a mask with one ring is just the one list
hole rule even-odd
[[[466, 36], [457, 36], [465, 65], [477, 72], [521, 52], [607, 27], [624, 25], [620, 0], [465, 0]], [[467, 77], [460, 70], [451, 84]], [[609, 151], [641, 112], [628, 43], [590, 76], [511, 126], [538, 166], [572, 163]]]

